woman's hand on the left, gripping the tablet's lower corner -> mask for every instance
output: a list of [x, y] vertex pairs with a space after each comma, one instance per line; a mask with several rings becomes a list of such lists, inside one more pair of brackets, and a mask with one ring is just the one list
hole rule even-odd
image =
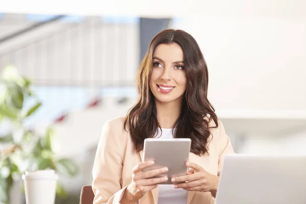
[[[168, 172], [168, 168], [159, 168], [143, 172], [145, 167], [154, 165], [154, 161], [141, 162], [133, 168], [132, 183], [127, 187], [130, 198], [137, 202], [147, 191], [155, 189], [157, 184], [168, 181], [168, 177], [152, 178], [161, 173]], [[130, 199], [130, 200], [131, 200]]]

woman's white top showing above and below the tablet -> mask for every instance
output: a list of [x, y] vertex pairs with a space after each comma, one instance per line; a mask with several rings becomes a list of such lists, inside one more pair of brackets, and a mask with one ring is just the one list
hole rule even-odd
[[[162, 134], [160, 130], [156, 138], [170, 139], [173, 138], [173, 129], [162, 129]], [[158, 185], [158, 204], [186, 204], [188, 191], [184, 189], [175, 189], [173, 185]]]

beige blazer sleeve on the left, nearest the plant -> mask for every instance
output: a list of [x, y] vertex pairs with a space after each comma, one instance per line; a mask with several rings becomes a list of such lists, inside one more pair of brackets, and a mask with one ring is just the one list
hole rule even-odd
[[122, 141], [111, 121], [103, 125], [92, 168], [93, 204], [119, 204], [126, 187], [121, 186]]

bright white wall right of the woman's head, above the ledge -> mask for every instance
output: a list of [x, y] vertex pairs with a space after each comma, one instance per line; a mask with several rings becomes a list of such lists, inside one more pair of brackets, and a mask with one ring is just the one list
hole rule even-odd
[[303, 18], [201, 17], [172, 27], [200, 45], [217, 109], [306, 110]]

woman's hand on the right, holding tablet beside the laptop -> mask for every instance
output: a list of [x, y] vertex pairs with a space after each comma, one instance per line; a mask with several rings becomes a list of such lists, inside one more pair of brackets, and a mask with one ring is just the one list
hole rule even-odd
[[216, 194], [219, 176], [207, 172], [195, 163], [187, 162], [186, 166], [191, 168], [187, 172], [187, 175], [172, 177], [171, 182], [174, 184], [174, 188], [182, 188], [187, 191], [212, 192]]

